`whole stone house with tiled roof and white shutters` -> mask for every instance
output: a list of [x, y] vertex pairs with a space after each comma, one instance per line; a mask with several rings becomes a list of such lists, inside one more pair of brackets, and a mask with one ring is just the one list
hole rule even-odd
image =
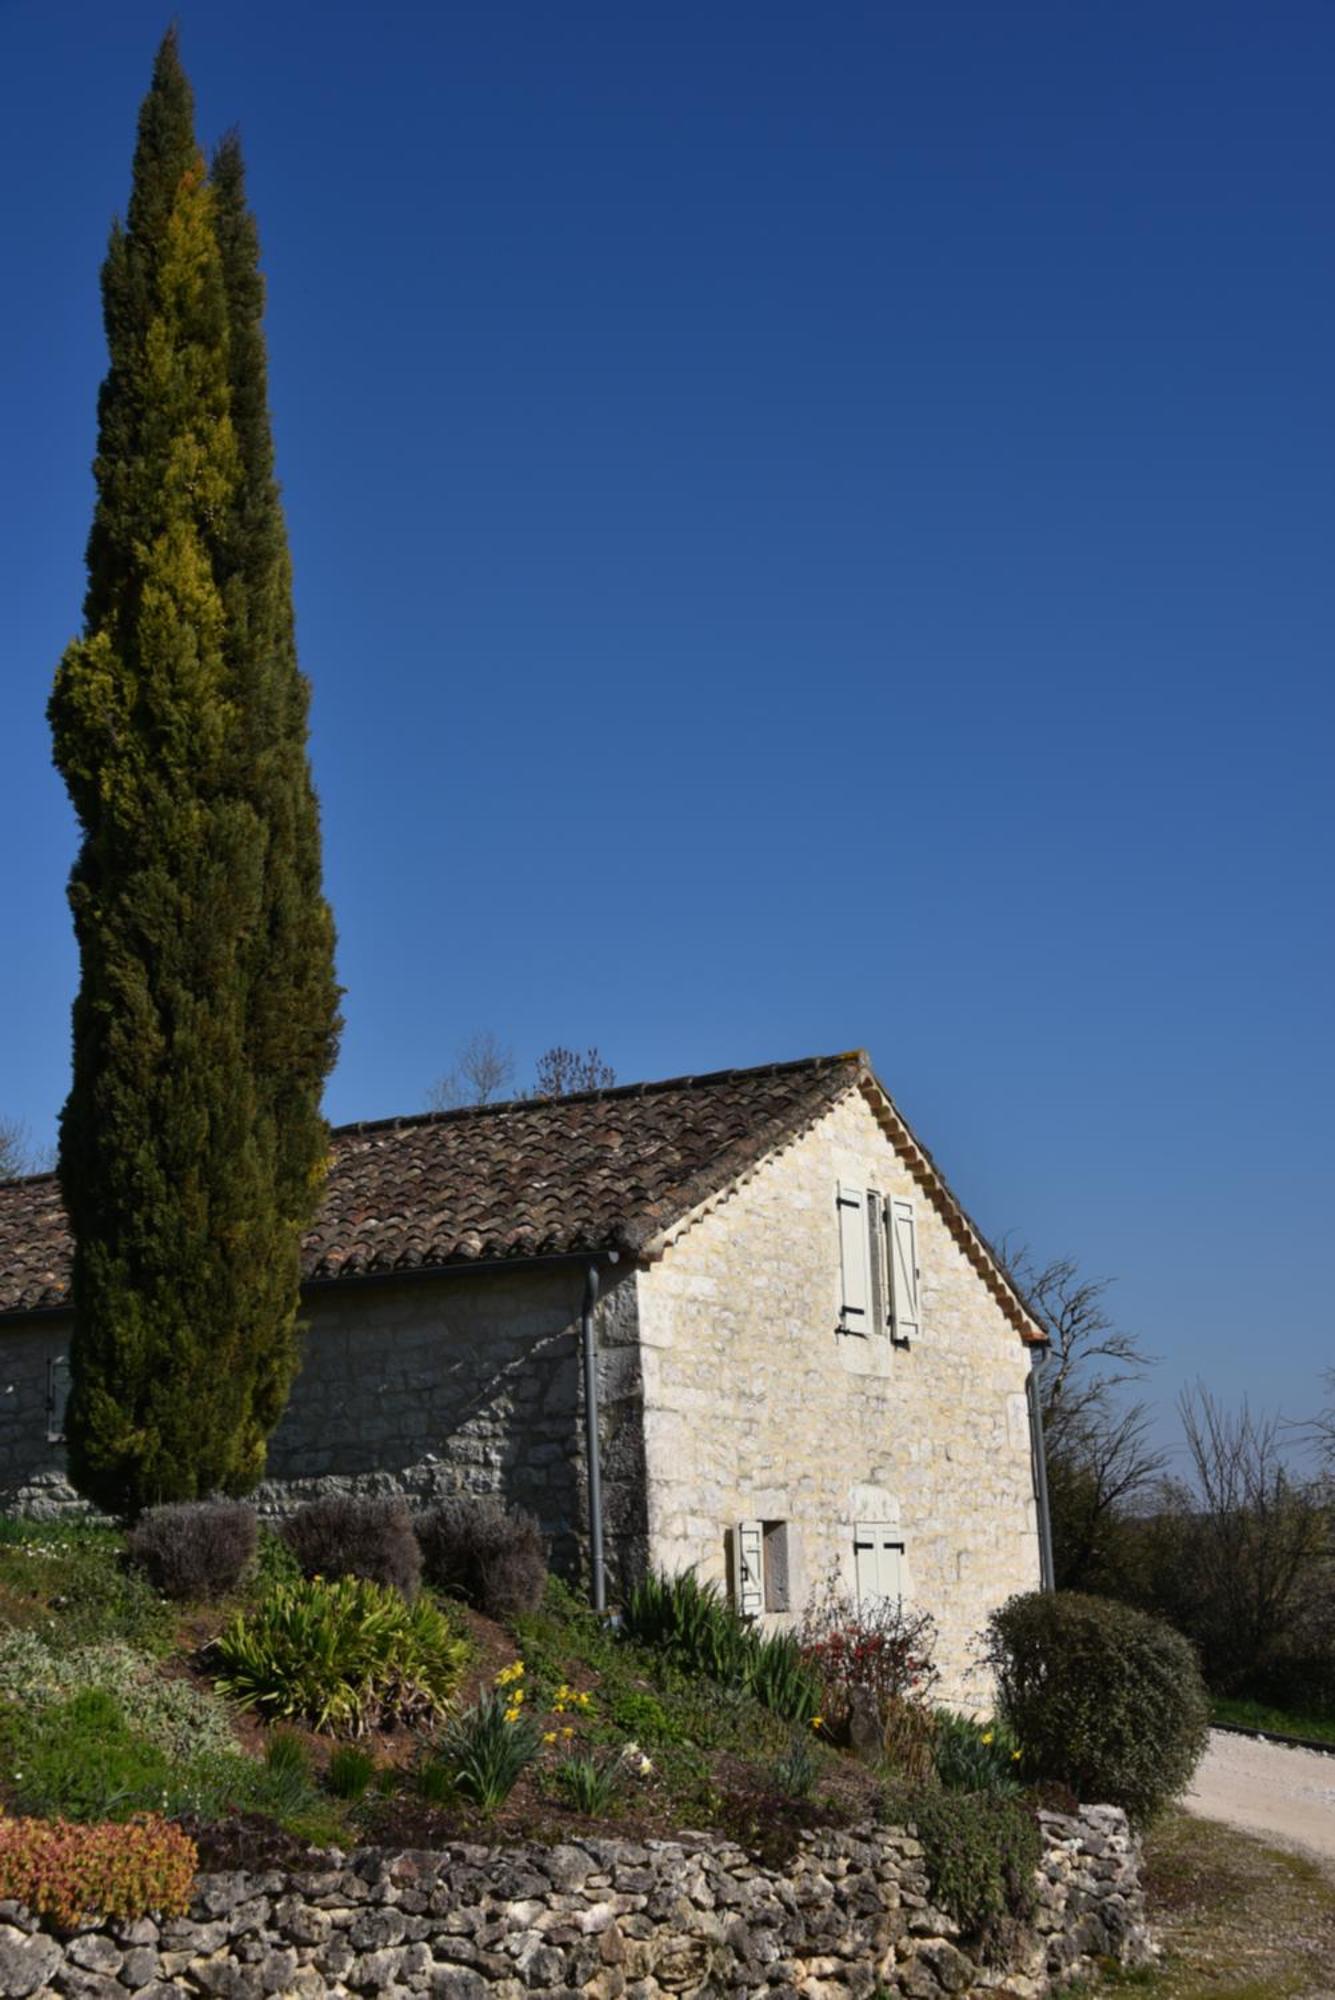
[[[68, 1264], [54, 1178], [0, 1186], [10, 1508], [74, 1500]], [[588, 1570], [588, 1332], [614, 1590], [693, 1564], [787, 1622], [837, 1574], [965, 1694], [1039, 1582], [1043, 1332], [861, 1052], [344, 1126], [304, 1270], [270, 1510], [494, 1490]]]

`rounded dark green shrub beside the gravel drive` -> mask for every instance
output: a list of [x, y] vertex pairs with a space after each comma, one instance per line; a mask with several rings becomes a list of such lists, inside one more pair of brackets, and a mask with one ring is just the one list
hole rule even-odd
[[1209, 1736], [1195, 1652], [1159, 1618], [1073, 1590], [1029, 1592], [993, 1612], [997, 1708], [1027, 1778], [1145, 1824], [1185, 1790]]

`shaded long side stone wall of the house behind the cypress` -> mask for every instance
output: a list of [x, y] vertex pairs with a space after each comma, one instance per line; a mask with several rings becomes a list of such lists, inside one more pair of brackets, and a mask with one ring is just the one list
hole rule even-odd
[[[616, 1274], [612, 1274], [616, 1280]], [[584, 1562], [588, 1486], [580, 1308], [584, 1270], [462, 1272], [312, 1290], [302, 1372], [256, 1494], [282, 1514], [330, 1492], [496, 1492], [538, 1516], [566, 1574]], [[610, 1562], [644, 1568], [644, 1428], [636, 1284], [598, 1308], [604, 1518]], [[48, 1440], [48, 1362], [70, 1320], [0, 1332], [0, 1504], [78, 1508]]]

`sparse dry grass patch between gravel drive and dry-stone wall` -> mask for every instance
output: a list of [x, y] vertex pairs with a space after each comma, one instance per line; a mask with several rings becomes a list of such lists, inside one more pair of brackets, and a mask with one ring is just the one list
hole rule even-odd
[[1159, 1964], [1067, 1988], [1149, 2000], [1317, 2000], [1335, 1964], [1335, 1880], [1301, 1854], [1169, 1812], [1145, 1840]]

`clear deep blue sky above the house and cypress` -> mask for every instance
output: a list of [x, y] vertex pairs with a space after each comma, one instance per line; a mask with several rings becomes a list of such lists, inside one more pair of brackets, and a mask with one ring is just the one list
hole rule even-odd
[[[865, 1044], [993, 1234], [1335, 1360], [1335, 12], [180, 0], [240, 124], [348, 1030]], [[76, 960], [44, 704], [160, 4], [0, 0], [0, 1114]]]

